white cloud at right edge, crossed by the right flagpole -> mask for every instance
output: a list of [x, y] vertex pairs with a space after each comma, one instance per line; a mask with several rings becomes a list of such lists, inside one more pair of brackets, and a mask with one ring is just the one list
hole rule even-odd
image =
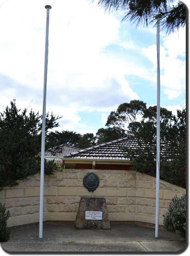
[[[185, 56], [185, 28], [165, 37], [163, 46], [160, 45], [160, 86], [164, 86], [169, 100], [185, 92], [186, 62], [181, 59]], [[152, 71], [157, 69], [157, 46], [143, 48], [142, 53], [152, 64]], [[150, 79], [156, 81], [156, 72]]]

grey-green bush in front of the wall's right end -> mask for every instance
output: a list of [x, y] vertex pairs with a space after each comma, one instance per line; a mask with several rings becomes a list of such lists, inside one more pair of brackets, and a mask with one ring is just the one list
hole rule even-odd
[[172, 198], [168, 212], [164, 216], [164, 226], [167, 230], [180, 232], [185, 238], [186, 235], [186, 196]]

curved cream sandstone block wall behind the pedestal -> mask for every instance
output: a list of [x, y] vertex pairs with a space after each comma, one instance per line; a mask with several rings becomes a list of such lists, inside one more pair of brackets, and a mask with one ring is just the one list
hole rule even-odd
[[[83, 177], [95, 172], [100, 183], [94, 192], [83, 186]], [[11, 213], [8, 226], [39, 221], [40, 174], [0, 191], [0, 200]], [[159, 224], [174, 195], [185, 189], [160, 180]], [[128, 170], [63, 169], [44, 177], [44, 220], [75, 220], [81, 196], [106, 198], [109, 220], [155, 223], [156, 178]]]

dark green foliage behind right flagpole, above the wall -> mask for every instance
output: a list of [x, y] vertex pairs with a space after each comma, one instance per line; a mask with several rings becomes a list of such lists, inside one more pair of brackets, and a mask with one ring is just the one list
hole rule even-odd
[[[154, 109], [154, 111], [152, 111]], [[146, 111], [138, 130], [135, 149], [124, 149], [130, 158], [133, 169], [156, 176], [156, 106]], [[149, 114], [147, 115], [147, 112]], [[152, 114], [151, 114], [152, 113]], [[165, 108], [160, 109], [160, 178], [185, 188], [185, 109], [177, 111], [177, 117]], [[130, 127], [129, 127], [130, 129]], [[134, 130], [133, 130], [134, 132]]]

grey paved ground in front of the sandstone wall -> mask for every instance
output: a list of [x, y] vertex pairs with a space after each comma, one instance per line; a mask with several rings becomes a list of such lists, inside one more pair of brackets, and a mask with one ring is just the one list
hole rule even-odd
[[6, 251], [179, 251], [185, 241], [179, 234], [141, 226], [112, 224], [111, 230], [76, 230], [73, 224], [45, 224], [43, 238], [39, 227], [12, 231]]

